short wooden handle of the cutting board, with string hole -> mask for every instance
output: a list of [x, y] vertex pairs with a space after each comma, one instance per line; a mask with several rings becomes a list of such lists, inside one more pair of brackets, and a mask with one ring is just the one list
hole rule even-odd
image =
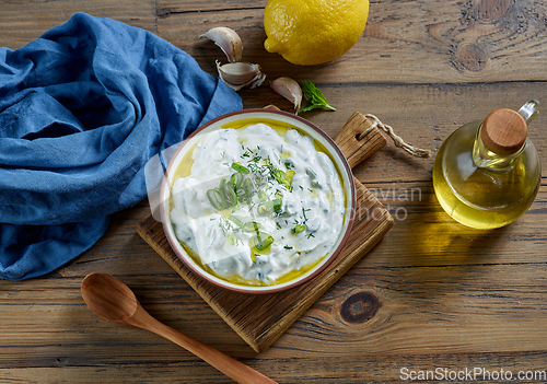
[[[336, 136], [335, 142], [350, 167], [354, 167], [387, 144], [385, 136], [373, 125], [372, 120], [356, 112]], [[363, 132], [366, 133], [362, 135]]]

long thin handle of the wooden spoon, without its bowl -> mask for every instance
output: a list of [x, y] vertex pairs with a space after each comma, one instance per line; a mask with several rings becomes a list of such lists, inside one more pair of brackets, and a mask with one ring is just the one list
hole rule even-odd
[[189, 336], [186, 336], [178, 330], [161, 323], [150, 315], [140, 304], [138, 304], [135, 315], [126, 322], [127, 324], [150, 330], [160, 335], [167, 340], [185, 348], [189, 352], [201, 358], [226, 376], [233, 379], [240, 384], [277, 384], [277, 382], [265, 376], [258, 371], [255, 371], [248, 365], [232, 359], [228, 354], [209, 347]]

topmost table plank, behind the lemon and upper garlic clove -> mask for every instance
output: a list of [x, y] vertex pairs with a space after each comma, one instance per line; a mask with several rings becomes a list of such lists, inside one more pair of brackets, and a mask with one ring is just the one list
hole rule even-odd
[[244, 60], [260, 63], [270, 79], [325, 75], [330, 84], [545, 80], [547, 5], [540, 1], [372, 2], [356, 46], [333, 62], [314, 67], [289, 65], [264, 49], [264, 11], [258, 5], [200, 12], [193, 4], [167, 1], [159, 8], [175, 9], [158, 20], [159, 35], [211, 72], [214, 60], [224, 57], [197, 37], [212, 26], [230, 26], [243, 39]]

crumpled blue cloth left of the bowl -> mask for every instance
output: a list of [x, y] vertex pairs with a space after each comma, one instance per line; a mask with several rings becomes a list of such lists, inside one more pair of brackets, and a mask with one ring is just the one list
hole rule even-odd
[[0, 48], [0, 277], [45, 275], [147, 196], [146, 163], [240, 96], [186, 53], [75, 13]]

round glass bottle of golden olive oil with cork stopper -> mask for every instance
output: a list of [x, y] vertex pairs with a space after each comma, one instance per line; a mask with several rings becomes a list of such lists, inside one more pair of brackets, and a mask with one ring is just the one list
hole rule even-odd
[[494, 229], [526, 212], [542, 177], [537, 151], [527, 139], [538, 106], [531, 101], [519, 112], [494, 110], [444, 141], [433, 166], [433, 187], [453, 219], [476, 229]]

